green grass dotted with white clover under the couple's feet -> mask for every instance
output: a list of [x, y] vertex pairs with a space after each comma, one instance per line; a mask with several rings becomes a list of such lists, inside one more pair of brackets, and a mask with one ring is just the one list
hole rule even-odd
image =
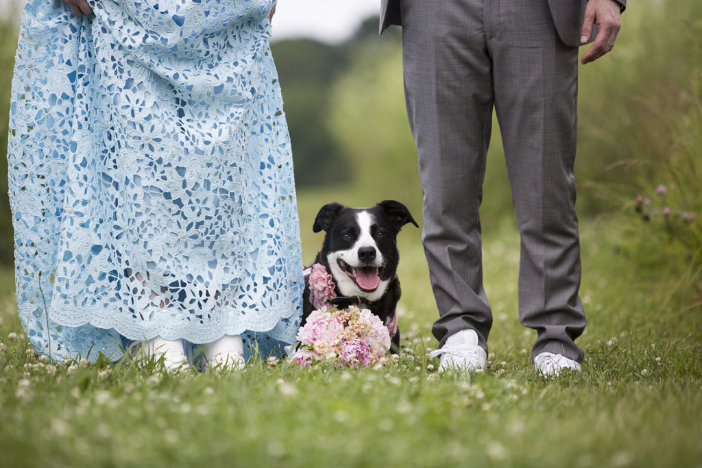
[[[300, 195], [303, 232], [317, 195]], [[469, 377], [438, 377], [427, 361], [436, 312], [418, 229], [400, 234], [409, 351], [379, 370], [52, 366], [27, 350], [1, 272], [0, 466], [702, 466], [700, 310], [661, 309], [615, 227], [583, 223], [585, 363], [552, 381], [531, 370], [534, 332], [517, 321], [509, 221], [485, 229], [496, 320], [489, 372]], [[305, 238], [307, 262], [318, 244]]]

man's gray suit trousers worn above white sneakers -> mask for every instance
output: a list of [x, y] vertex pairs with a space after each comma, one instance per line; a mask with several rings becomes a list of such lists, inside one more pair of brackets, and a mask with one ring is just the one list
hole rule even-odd
[[[573, 165], [578, 48], [565, 46], [548, 0], [402, 0], [407, 112], [424, 194], [423, 243], [443, 345], [473, 329], [487, 349], [481, 227], [493, 107], [521, 236], [519, 319], [532, 357], [582, 361], [585, 328]], [[506, 280], [506, 279], [505, 279]]]

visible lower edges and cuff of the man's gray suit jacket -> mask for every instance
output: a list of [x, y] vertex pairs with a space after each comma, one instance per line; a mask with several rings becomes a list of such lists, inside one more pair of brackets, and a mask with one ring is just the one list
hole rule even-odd
[[[425, 0], [437, 1], [437, 0]], [[442, 1], [442, 0], [438, 0]], [[621, 11], [626, 8], [626, 0], [616, 0]], [[585, 18], [585, 5], [588, 0], [548, 0], [556, 31], [563, 44], [571, 47], [580, 46], [580, 33]], [[402, 25], [400, 19], [400, 0], [380, 0], [380, 32], [390, 25]], [[595, 38], [597, 31], [593, 32]]]

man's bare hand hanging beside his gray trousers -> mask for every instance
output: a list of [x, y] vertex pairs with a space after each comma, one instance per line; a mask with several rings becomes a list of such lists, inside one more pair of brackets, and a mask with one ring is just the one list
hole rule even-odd
[[619, 4], [614, 0], [588, 0], [581, 43], [585, 44], [590, 40], [594, 25], [600, 25], [600, 32], [597, 32], [595, 43], [581, 58], [583, 64], [597, 60], [614, 48], [614, 41], [621, 27], [620, 14]]

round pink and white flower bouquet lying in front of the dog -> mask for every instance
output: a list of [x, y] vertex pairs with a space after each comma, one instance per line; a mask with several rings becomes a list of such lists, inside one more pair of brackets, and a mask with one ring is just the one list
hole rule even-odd
[[340, 367], [372, 366], [390, 349], [390, 332], [369, 309], [317, 309], [298, 330], [296, 368], [325, 361]]

